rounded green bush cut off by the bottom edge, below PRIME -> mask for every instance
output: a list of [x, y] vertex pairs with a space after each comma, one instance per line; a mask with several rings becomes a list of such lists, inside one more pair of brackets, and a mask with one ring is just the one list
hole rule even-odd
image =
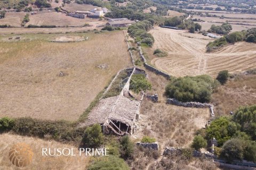
[[110, 155], [100, 158], [95, 158], [89, 167], [88, 170], [106, 170], [106, 169], [115, 169], [115, 170], [129, 170], [129, 166], [124, 162], [123, 159], [116, 156]]

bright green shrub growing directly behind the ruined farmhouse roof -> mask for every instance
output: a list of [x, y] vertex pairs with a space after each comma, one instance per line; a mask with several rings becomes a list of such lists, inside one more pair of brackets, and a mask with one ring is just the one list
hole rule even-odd
[[140, 91], [146, 91], [151, 89], [151, 83], [147, 80], [143, 74], [133, 74], [131, 78], [130, 86], [131, 89], [139, 94]]

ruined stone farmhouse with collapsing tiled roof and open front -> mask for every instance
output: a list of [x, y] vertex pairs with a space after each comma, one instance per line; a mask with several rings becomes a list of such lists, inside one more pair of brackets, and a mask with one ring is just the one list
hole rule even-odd
[[98, 106], [92, 109], [83, 126], [100, 124], [104, 133], [117, 135], [132, 135], [136, 131], [135, 121], [139, 118], [140, 101], [130, 98], [130, 81], [133, 74], [145, 76], [147, 74], [136, 67], [126, 69], [126, 71], [129, 77], [121, 93], [114, 97], [101, 99]]

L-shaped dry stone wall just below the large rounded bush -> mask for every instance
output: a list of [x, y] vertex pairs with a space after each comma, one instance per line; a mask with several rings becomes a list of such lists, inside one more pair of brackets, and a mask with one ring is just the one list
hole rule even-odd
[[183, 106], [183, 107], [196, 107], [196, 108], [209, 108], [211, 116], [214, 116], [213, 105], [210, 103], [199, 103], [199, 102], [181, 102], [174, 98], [167, 98], [166, 104]]

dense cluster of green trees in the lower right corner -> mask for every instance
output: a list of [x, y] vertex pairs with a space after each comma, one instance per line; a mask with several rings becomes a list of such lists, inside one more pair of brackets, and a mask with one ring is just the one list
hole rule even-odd
[[221, 116], [206, 128], [206, 139], [215, 138], [220, 157], [256, 163], [256, 105], [239, 107], [230, 117]]

